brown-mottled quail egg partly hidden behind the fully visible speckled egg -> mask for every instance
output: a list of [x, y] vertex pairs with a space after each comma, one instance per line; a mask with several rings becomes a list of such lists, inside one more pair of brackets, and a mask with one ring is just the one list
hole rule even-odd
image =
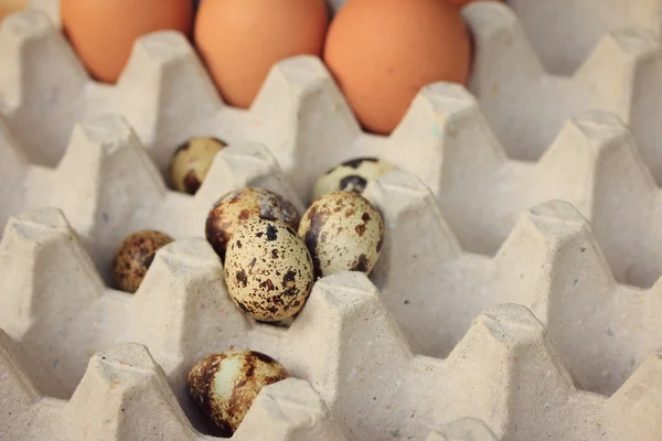
[[237, 227], [250, 217], [279, 219], [292, 228], [299, 225], [297, 208], [277, 193], [264, 189], [244, 187], [223, 195], [210, 212], [205, 235], [222, 260], [227, 241]]

